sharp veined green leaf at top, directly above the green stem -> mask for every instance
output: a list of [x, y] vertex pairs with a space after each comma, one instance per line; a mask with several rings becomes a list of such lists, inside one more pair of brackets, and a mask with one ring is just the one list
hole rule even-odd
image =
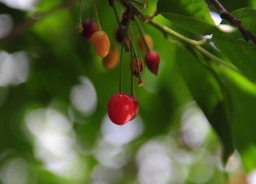
[[203, 0], [158, 0], [157, 14], [195, 34], [207, 35], [217, 30]]

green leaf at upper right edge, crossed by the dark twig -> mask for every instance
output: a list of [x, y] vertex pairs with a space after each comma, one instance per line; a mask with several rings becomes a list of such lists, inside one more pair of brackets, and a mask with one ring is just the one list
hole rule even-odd
[[[256, 10], [244, 8], [232, 13], [240, 18], [242, 24], [252, 33], [256, 33]], [[223, 24], [228, 24], [226, 20]], [[217, 31], [213, 41], [221, 53], [223, 53], [240, 71], [256, 81], [256, 46], [251, 41], [246, 42], [239, 30], [233, 33]]]

